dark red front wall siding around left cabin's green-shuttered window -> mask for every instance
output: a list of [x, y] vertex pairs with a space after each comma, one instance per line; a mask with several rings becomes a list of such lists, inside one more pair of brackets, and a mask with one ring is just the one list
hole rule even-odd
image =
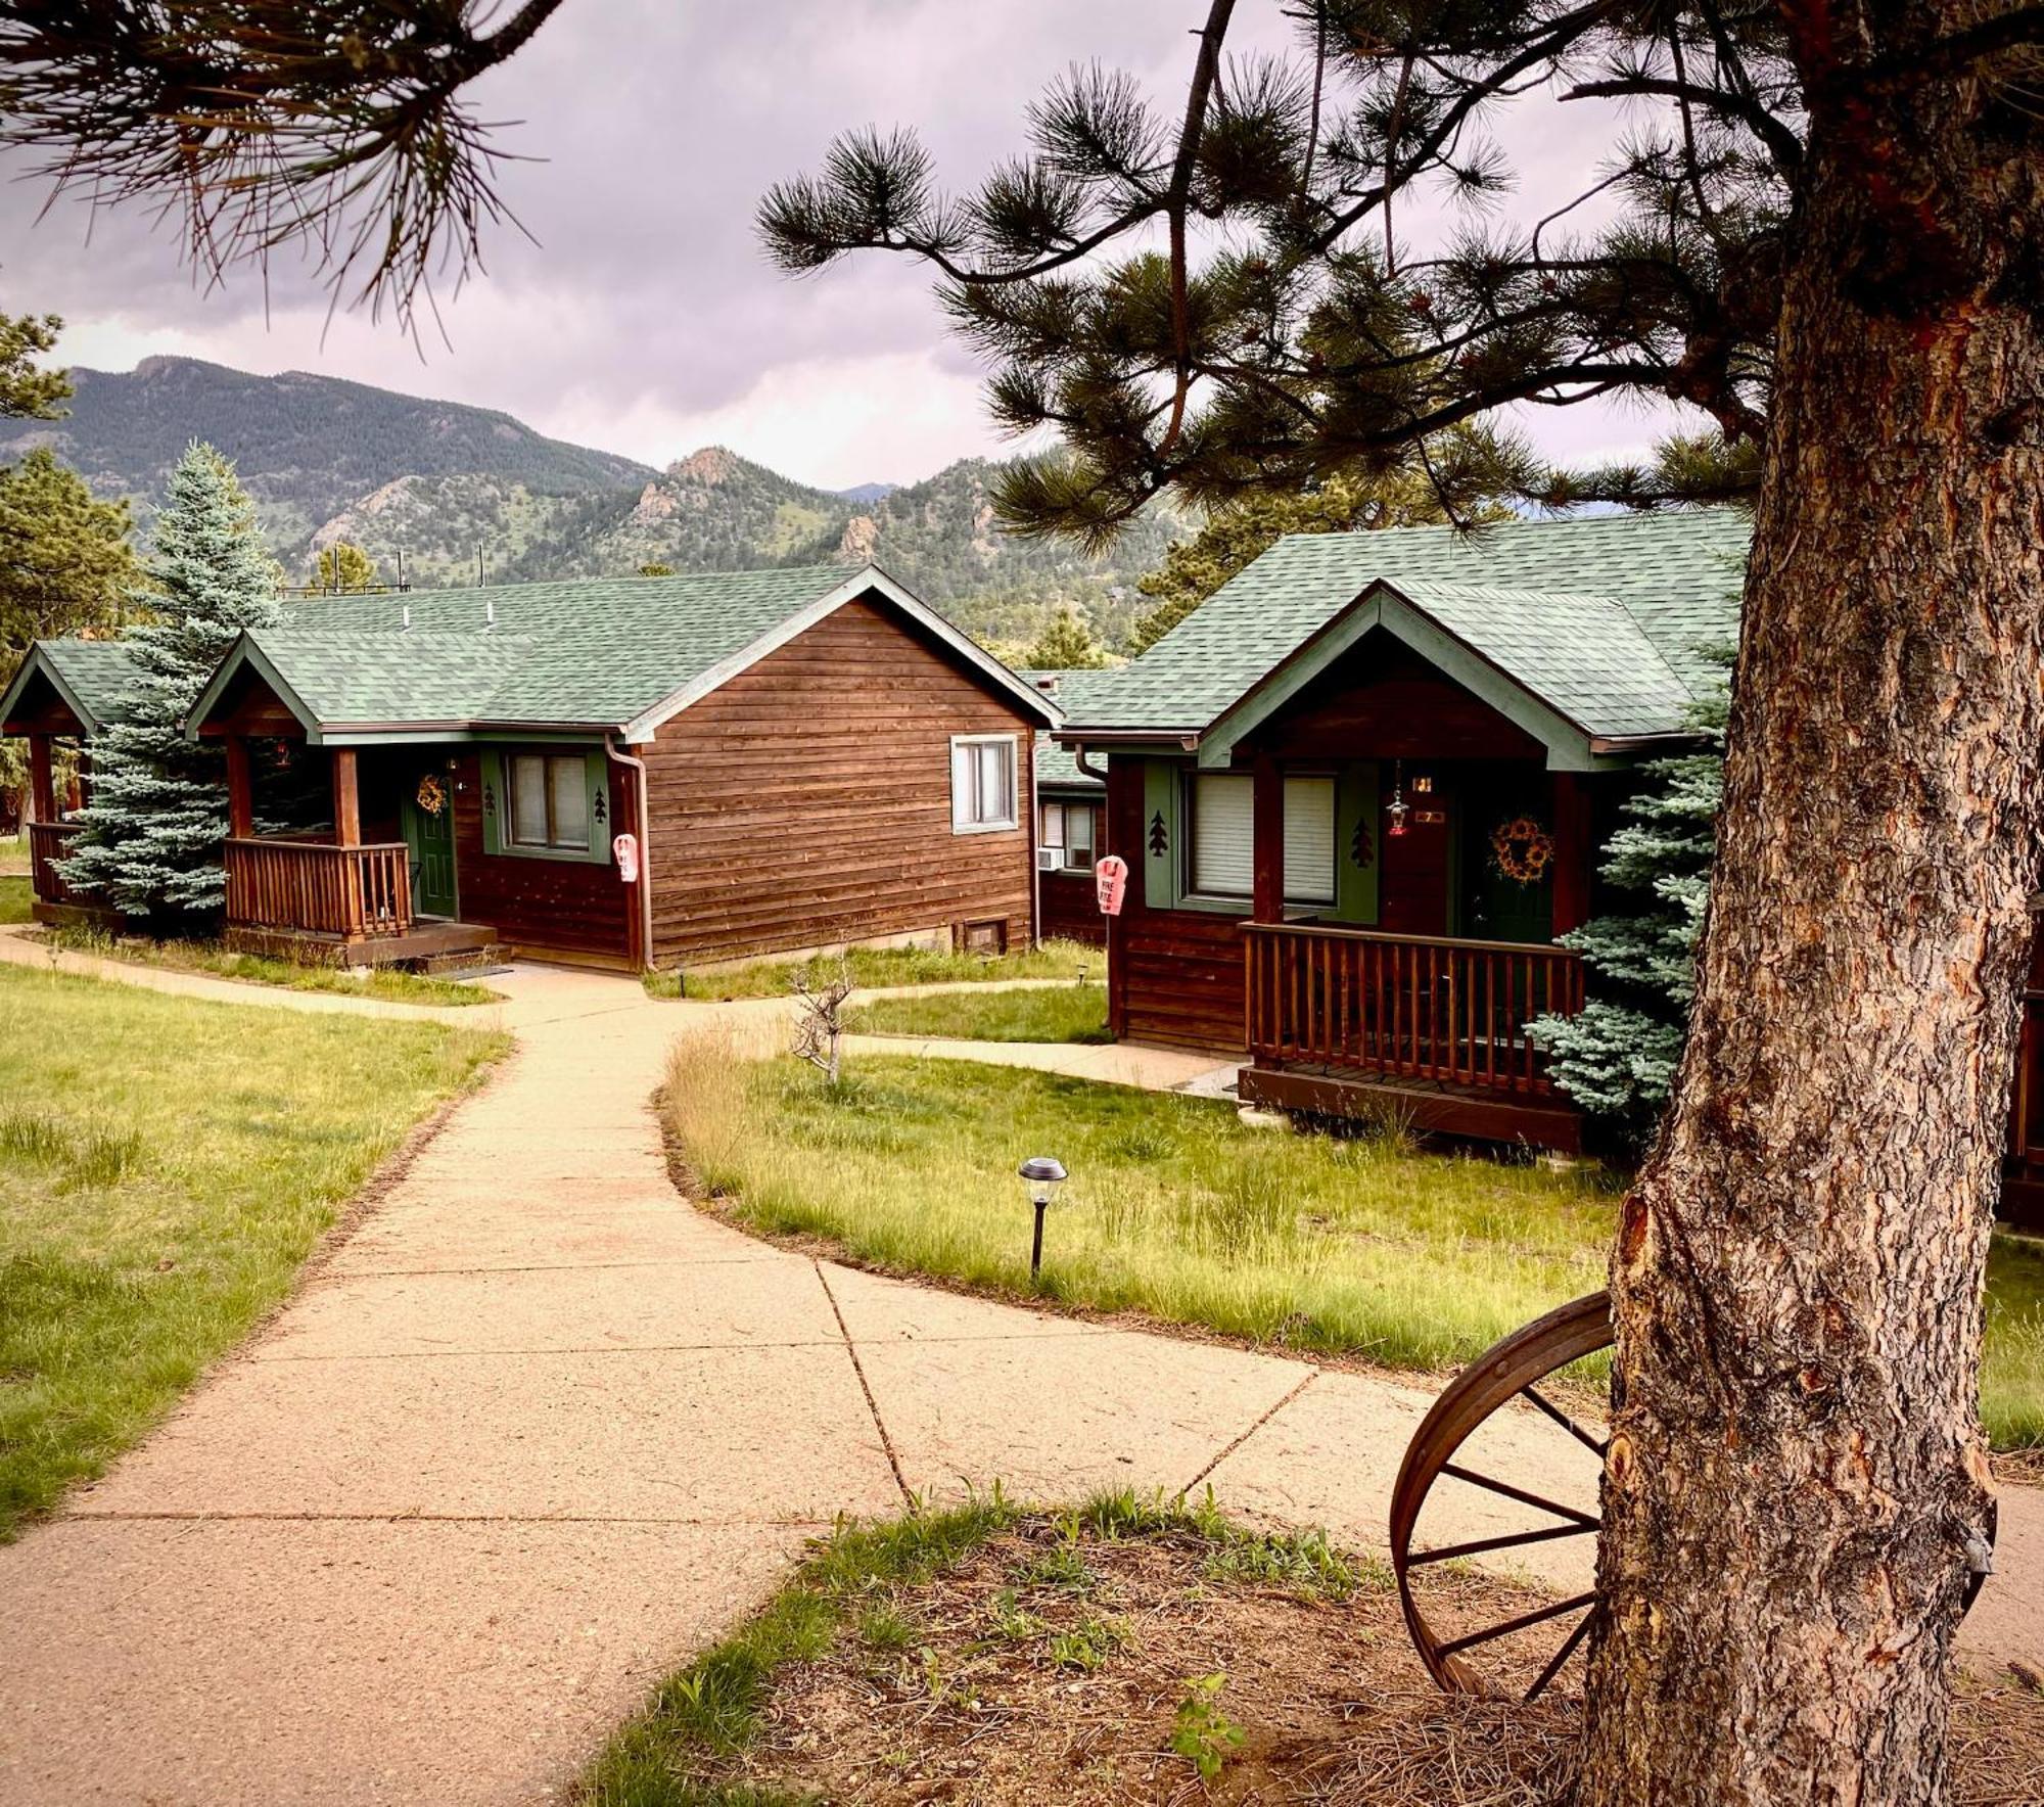
[[[621, 773], [609, 773], [609, 820], [632, 820]], [[505, 807], [503, 799], [497, 799]], [[601, 830], [597, 830], [601, 832]], [[632, 897], [605, 861], [493, 854], [482, 838], [482, 756], [454, 764], [454, 883], [464, 922], [486, 922], [509, 953], [576, 965], [632, 967]]]

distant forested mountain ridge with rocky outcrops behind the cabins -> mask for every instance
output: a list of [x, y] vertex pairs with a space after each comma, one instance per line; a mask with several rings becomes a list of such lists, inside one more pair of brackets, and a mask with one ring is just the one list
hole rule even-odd
[[548, 439], [511, 415], [327, 376], [249, 376], [192, 358], [133, 372], [74, 370], [61, 421], [0, 421], [0, 462], [49, 444], [102, 495], [149, 503], [192, 437], [241, 470], [292, 574], [350, 540], [413, 585], [619, 576], [642, 564], [746, 570], [877, 558], [981, 640], [1026, 642], [1059, 607], [1110, 644], [1134, 578], [1183, 525], [1134, 523], [1112, 556], [1016, 540], [993, 523], [997, 466], [969, 458], [924, 482], [822, 491], [722, 446], [666, 470]]

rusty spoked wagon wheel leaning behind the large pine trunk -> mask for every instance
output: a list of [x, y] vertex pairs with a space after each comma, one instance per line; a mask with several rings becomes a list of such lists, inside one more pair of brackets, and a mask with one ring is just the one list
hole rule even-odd
[[[1549, 1607], [1521, 1613], [1496, 1625], [1484, 1625], [1476, 1631], [1443, 1637], [1433, 1629], [1433, 1625], [1427, 1623], [1427, 1615], [1421, 1611], [1419, 1601], [1412, 1598], [1412, 1570], [1461, 1556], [1486, 1556], [1500, 1549], [1521, 1549], [1568, 1537], [1594, 1537], [1602, 1529], [1602, 1521], [1596, 1513], [1586, 1513], [1562, 1500], [1551, 1500], [1523, 1486], [1498, 1480], [1496, 1476], [1480, 1474], [1466, 1462], [1457, 1462], [1457, 1455], [1461, 1453], [1461, 1445], [1468, 1443], [1468, 1439], [1492, 1412], [1504, 1408], [1515, 1398], [1523, 1398], [1537, 1410], [1545, 1412], [1576, 1443], [1580, 1443], [1586, 1451], [1582, 1455], [1584, 1464], [1592, 1464], [1592, 1478], [1600, 1476], [1605, 1439], [1576, 1423], [1574, 1417], [1541, 1394], [1539, 1382], [1547, 1380], [1562, 1368], [1568, 1368], [1570, 1361], [1580, 1361], [1584, 1355], [1609, 1349], [1611, 1341], [1609, 1292], [1592, 1292], [1588, 1298], [1578, 1298], [1570, 1304], [1558, 1306], [1547, 1312], [1547, 1316], [1535, 1318], [1525, 1329], [1513, 1331], [1504, 1341], [1492, 1345], [1478, 1355], [1476, 1361], [1464, 1368], [1461, 1374], [1457, 1374], [1433, 1402], [1433, 1408], [1421, 1421], [1419, 1431], [1412, 1433], [1410, 1445], [1406, 1445], [1404, 1462], [1398, 1466], [1398, 1482], [1392, 1486], [1392, 1570], [1398, 1576], [1398, 1598], [1404, 1605], [1406, 1631], [1412, 1635], [1412, 1646], [1419, 1650], [1421, 1662], [1427, 1664], [1427, 1672], [1447, 1693], [1502, 1695], [1504, 1688], [1486, 1678], [1484, 1672], [1470, 1662], [1466, 1652], [1474, 1652], [1486, 1643], [1498, 1643], [1502, 1639], [1517, 1639], [1525, 1633], [1539, 1633], [1553, 1641], [1553, 1654], [1525, 1690], [1523, 1699], [1533, 1701], [1547, 1688], [1549, 1682], [1553, 1682], [1553, 1678], [1568, 1664], [1570, 1656], [1574, 1656], [1578, 1646], [1590, 1635], [1590, 1627], [1596, 1623], [1598, 1601], [1592, 1588], [1590, 1592], [1555, 1601]], [[1459, 1543], [1414, 1549], [1412, 1533], [1419, 1525], [1421, 1509], [1427, 1504], [1433, 1484], [1443, 1476], [1482, 1488], [1521, 1507], [1529, 1507], [1535, 1513], [1545, 1515], [1549, 1523], [1537, 1525], [1529, 1531], [1508, 1531], [1494, 1537], [1472, 1537]], [[1993, 1545], [1995, 1539], [1995, 1517], [1993, 1509], [1989, 1509], [1989, 1545]], [[1966, 1582], [1966, 1598], [1960, 1607], [1962, 1613], [1972, 1607], [1972, 1601], [1981, 1592], [1981, 1584], [1985, 1580], [1985, 1570], [1977, 1570], [1970, 1576]], [[1568, 1631], [1555, 1639], [1562, 1625], [1568, 1625]]]

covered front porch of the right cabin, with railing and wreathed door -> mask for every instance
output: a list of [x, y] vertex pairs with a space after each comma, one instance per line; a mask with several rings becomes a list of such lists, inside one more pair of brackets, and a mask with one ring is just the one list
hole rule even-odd
[[[1527, 1024], [1584, 1006], [1582, 957], [1553, 938], [1590, 912], [1592, 793], [1586, 775], [1513, 752], [1378, 762], [1374, 822], [1343, 850], [1369, 867], [1369, 926], [1298, 897], [1322, 859], [1308, 785], [1327, 760], [1253, 760], [1245, 1104], [1580, 1151], [1580, 1114]], [[1529, 834], [1498, 852], [1506, 828]]]

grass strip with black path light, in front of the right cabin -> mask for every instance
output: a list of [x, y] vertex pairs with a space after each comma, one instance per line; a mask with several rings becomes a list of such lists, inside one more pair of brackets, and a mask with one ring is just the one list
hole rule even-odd
[[[995, 1294], [1028, 1290], [1016, 1163], [1057, 1155], [1051, 1300], [1392, 1368], [1457, 1365], [1594, 1292], [1617, 1208], [1592, 1169], [1251, 1130], [1220, 1102], [969, 1061], [856, 1057], [832, 1094], [697, 1036], [666, 1112], [746, 1229]], [[1989, 1431], [2044, 1443], [2044, 1249], [1997, 1237], [1989, 1290]]]

